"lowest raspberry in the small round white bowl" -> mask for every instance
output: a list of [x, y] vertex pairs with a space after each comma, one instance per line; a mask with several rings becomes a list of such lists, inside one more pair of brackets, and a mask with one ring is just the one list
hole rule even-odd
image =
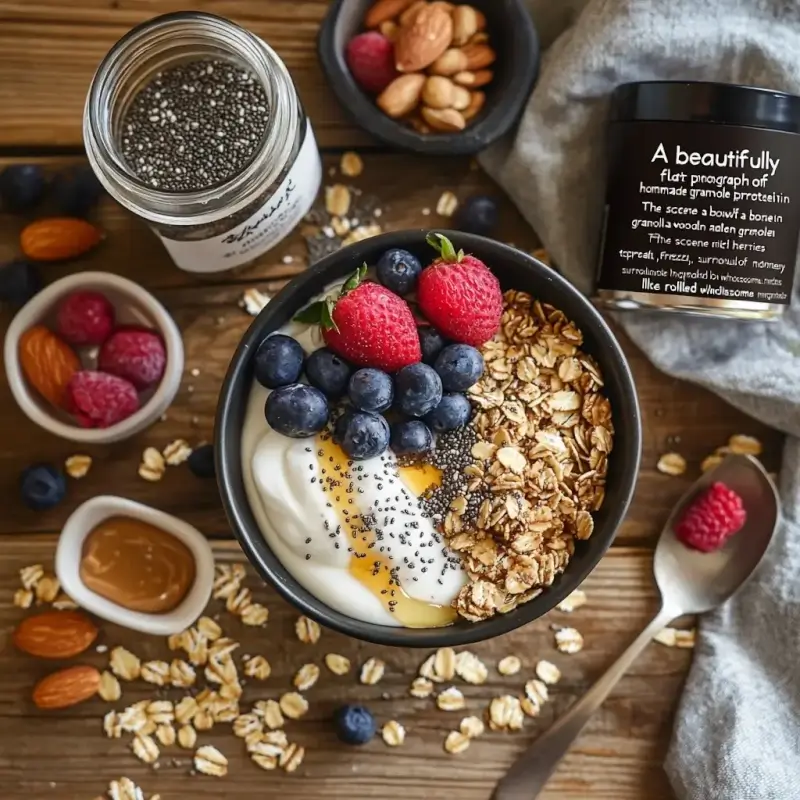
[[72, 412], [84, 428], [110, 428], [139, 410], [136, 387], [105, 372], [81, 370], [67, 386]]

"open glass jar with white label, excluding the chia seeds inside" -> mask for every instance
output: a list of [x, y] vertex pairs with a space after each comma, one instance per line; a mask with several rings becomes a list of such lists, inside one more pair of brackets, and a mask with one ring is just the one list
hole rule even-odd
[[[126, 162], [123, 121], [159, 72], [202, 60], [226, 61], [255, 77], [266, 95], [266, 130], [249, 162], [222, 182], [159, 190]], [[146, 220], [173, 261], [189, 272], [241, 267], [274, 247], [309, 211], [322, 180], [314, 132], [286, 66], [257, 36], [212, 14], [166, 14], [120, 39], [92, 80], [83, 134], [109, 194]]]

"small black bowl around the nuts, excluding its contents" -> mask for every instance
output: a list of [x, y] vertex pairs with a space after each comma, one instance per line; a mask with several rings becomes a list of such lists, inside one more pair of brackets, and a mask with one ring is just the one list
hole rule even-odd
[[375, 0], [334, 0], [319, 31], [322, 67], [334, 94], [357, 125], [394, 147], [428, 155], [471, 155], [507, 133], [525, 108], [539, 70], [539, 39], [523, 0], [472, 0], [487, 20], [497, 51], [494, 80], [482, 91], [486, 105], [458, 133], [423, 135], [387, 117], [375, 99], [350, 75], [345, 62], [347, 43], [363, 30], [367, 9]]

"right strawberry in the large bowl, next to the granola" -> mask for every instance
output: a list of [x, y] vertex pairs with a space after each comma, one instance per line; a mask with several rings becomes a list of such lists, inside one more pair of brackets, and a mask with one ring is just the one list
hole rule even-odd
[[480, 347], [500, 327], [500, 281], [480, 259], [456, 252], [441, 233], [429, 234], [427, 241], [440, 258], [419, 276], [419, 307], [445, 338]]

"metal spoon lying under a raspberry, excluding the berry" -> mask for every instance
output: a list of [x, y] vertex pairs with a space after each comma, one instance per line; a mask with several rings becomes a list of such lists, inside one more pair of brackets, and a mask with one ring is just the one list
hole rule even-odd
[[[722, 549], [701, 553], [679, 542], [673, 525], [686, 506], [716, 481], [738, 492], [747, 521]], [[512, 764], [492, 800], [533, 800], [653, 636], [676, 617], [710, 611], [731, 597], [761, 562], [779, 521], [778, 492], [756, 459], [729, 455], [706, 472], [677, 503], [658, 540], [653, 570], [661, 593], [660, 611], [605, 675]]]

